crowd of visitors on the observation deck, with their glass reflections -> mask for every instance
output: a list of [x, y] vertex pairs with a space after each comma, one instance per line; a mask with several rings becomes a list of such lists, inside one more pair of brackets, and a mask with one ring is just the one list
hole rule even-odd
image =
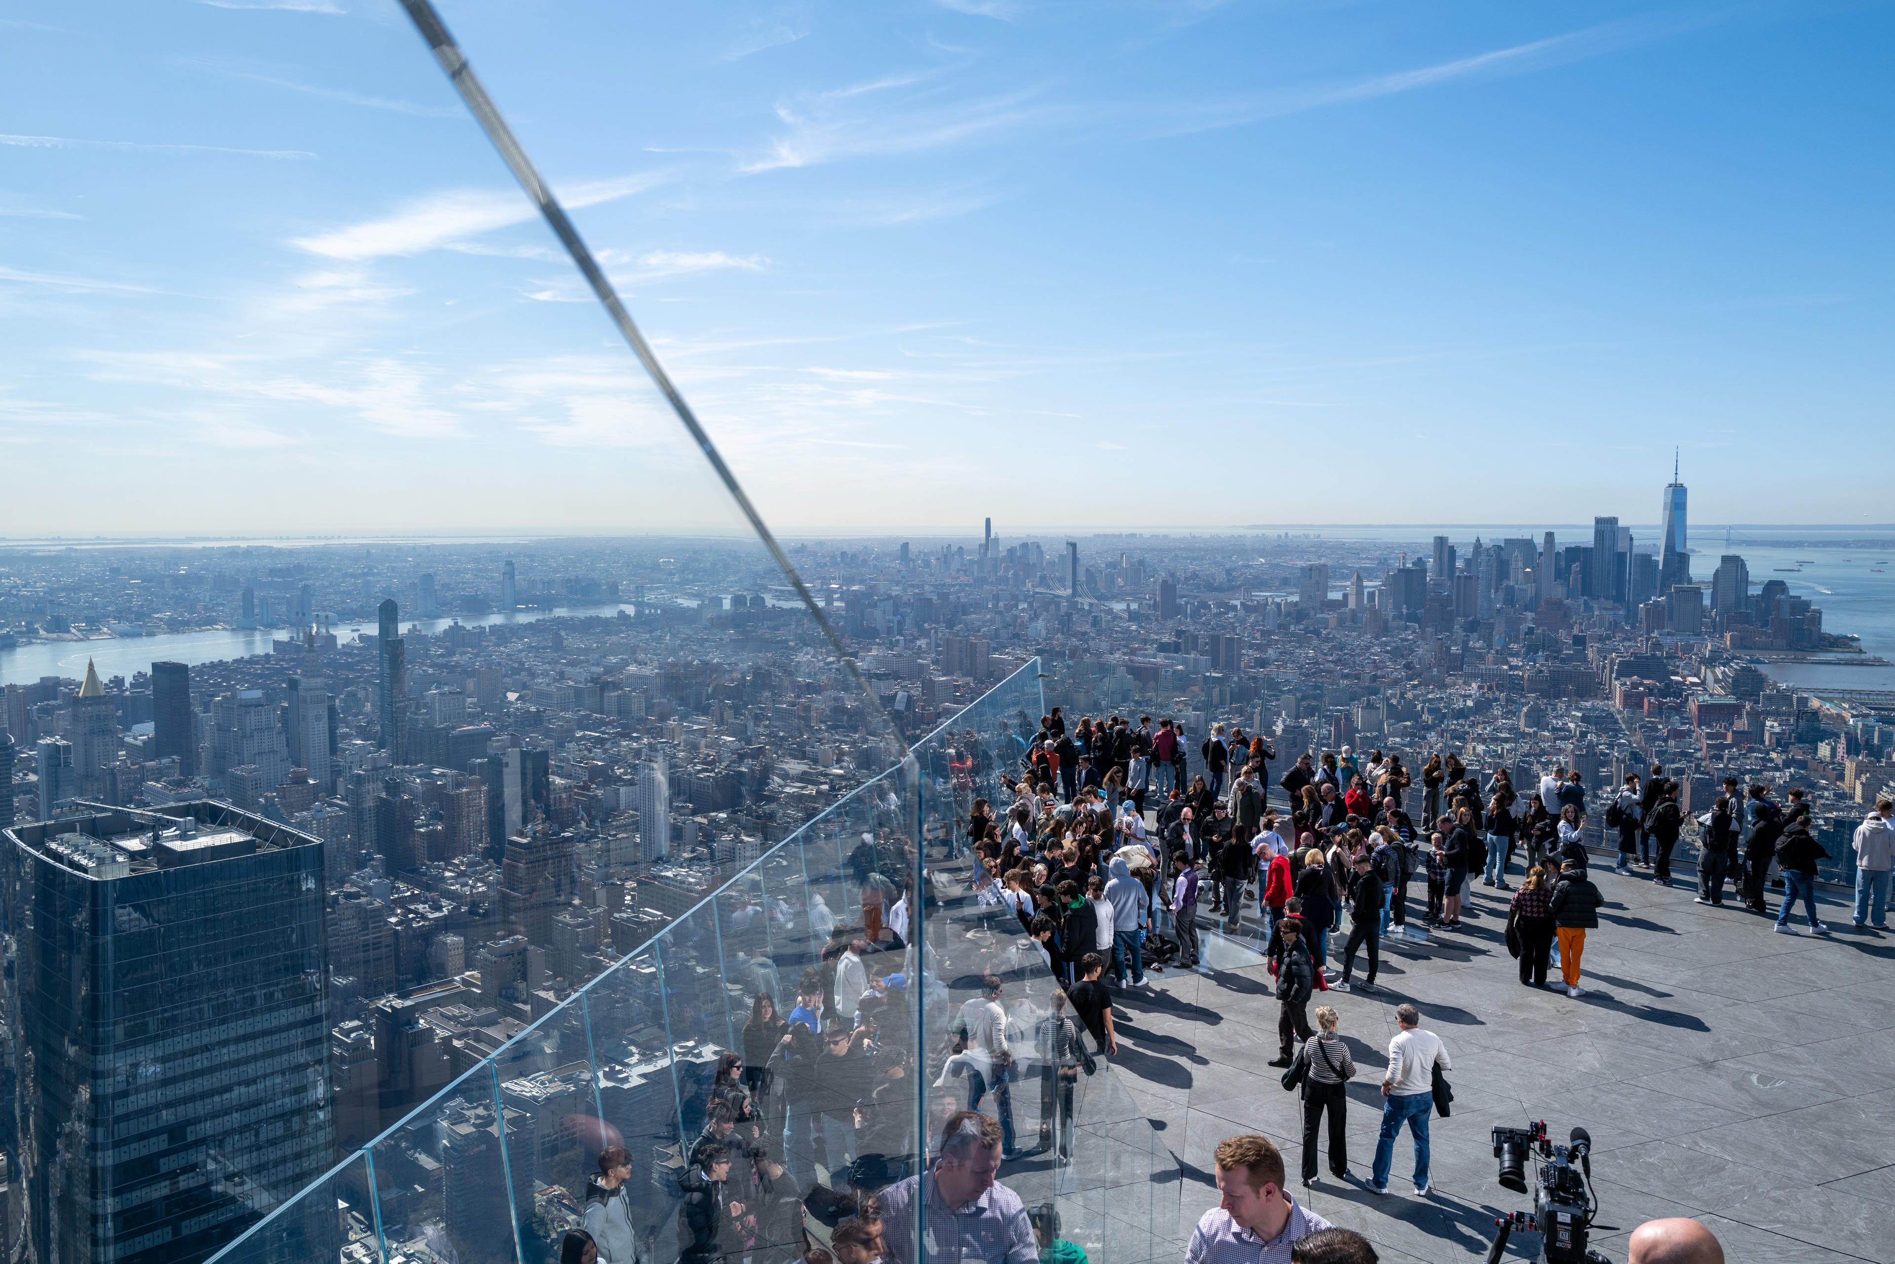
[[[1325, 1118], [1328, 1173], [1353, 1179], [1345, 1116], [1357, 1065], [1338, 1010], [1315, 1008], [1311, 1025], [1311, 1001], [1374, 991], [1391, 930], [1463, 930], [1474, 883], [1508, 893], [1520, 984], [1546, 987], [1558, 966], [1558, 985], [1580, 997], [1586, 936], [1603, 904], [1584, 843], [1590, 811], [1603, 807], [1615, 872], [1645, 872], [1666, 887], [1688, 828], [1677, 783], [1656, 766], [1599, 794], [1560, 767], [1516, 788], [1508, 769], [1476, 771], [1452, 752], [1410, 769], [1399, 754], [1342, 747], [1300, 754], [1272, 777], [1275, 750], [1236, 728], [1213, 726], [1194, 747], [1169, 718], [1069, 728], [1052, 709], [1037, 735], [1029, 730], [985, 767], [991, 775], [970, 783], [953, 828], [929, 838], [934, 855], [887, 830], [864, 834], [843, 862], [862, 898], [858, 923], [843, 925], [826, 906], [819, 917], [822, 898], [811, 896], [809, 929], [826, 944], [800, 965], [794, 1004], [785, 995], [779, 1012], [775, 974], [756, 985], [741, 1050], [722, 1056], [703, 1131], [684, 1148], [680, 1260], [921, 1264], [915, 1217], [938, 1209], [957, 1241], [932, 1237], [927, 1264], [963, 1251], [995, 1264], [1086, 1264], [1061, 1237], [1054, 1205], [1025, 1207], [997, 1175], [1029, 1150], [1071, 1160], [1076, 1086], [1118, 1054], [1114, 1004], [1150, 987], [1148, 972], [1203, 970], [1203, 929], [1245, 936], [1270, 963], [1279, 1002], [1270, 1065], [1302, 1086], [1302, 1184], [1321, 1179]], [[1410, 815], [1416, 798], [1419, 819]], [[1886, 925], [1891, 815], [1880, 802], [1855, 834], [1857, 925]], [[1781, 887], [1776, 929], [1795, 932], [1800, 904], [1812, 932], [1827, 932], [1814, 906], [1825, 853], [1800, 790], [1779, 804], [1770, 786], [1732, 779], [1698, 824], [1698, 902], [1723, 906], [1728, 877], [1736, 900], [1766, 910]], [[915, 915], [921, 908], [929, 919]], [[953, 944], [923, 929], [955, 917], [965, 934]], [[936, 961], [938, 951], [953, 965]], [[798, 966], [779, 957], [771, 970]], [[1010, 978], [1037, 970], [1054, 984], [1044, 1006], [1006, 995]], [[915, 1006], [946, 997], [942, 974], [978, 982], [959, 984], [972, 995], [944, 1008], [940, 1046], [917, 1046]], [[1416, 1006], [1395, 1014], [1381, 1129], [1363, 1184], [1387, 1192], [1408, 1129], [1414, 1188], [1427, 1194], [1429, 1118], [1452, 1092], [1452, 1061]], [[1018, 1086], [1035, 1082], [1037, 1145], [1031, 1122], [1020, 1135], [1014, 1101]], [[936, 1092], [925, 1095], [923, 1084]], [[919, 1120], [917, 1101], [927, 1103]], [[1220, 1205], [1200, 1222], [1188, 1264], [1376, 1258], [1366, 1239], [1289, 1194], [1268, 1139], [1234, 1137], [1215, 1158]], [[623, 1194], [629, 1179], [627, 1152], [605, 1148], [567, 1264], [652, 1264], [650, 1226], [641, 1237]], [[811, 1219], [824, 1230], [811, 1232]], [[1645, 1236], [1645, 1258], [1721, 1258], [1706, 1255], [1706, 1237], [1702, 1226], [1673, 1224]]]

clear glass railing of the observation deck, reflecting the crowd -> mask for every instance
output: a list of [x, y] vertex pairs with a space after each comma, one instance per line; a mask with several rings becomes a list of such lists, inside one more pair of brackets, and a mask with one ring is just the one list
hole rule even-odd
[[[1040, 703], [1033, 659], [212, 1258], [546, 1264], [591, 1224], [606, 1264], [821, 1262], [851, 1219], [839, 1264], [858, 1228], [891, 1262], [1177, 1258], [1175, 1158], [1092, 1037], [1057, 1038], [1050, 966], [972, 883], [968, 809], [1008, 802]], [[1010, 1065], [955, 1052], [995, 982]], [[1002, 1124], [995, 1224], [944, 1207], [965, 1147], [934, 1167], [970, 1103]], [[601, 1179], [610, 1147], [629, 1177]]]

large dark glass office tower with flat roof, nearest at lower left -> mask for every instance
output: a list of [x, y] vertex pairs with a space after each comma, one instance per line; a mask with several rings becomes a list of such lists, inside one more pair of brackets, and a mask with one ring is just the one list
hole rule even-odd
[[[334, 1158], [322, 843], [226, 804], [81, 807], [0, 834], [9, 1258], [193, 1264]], [[315, 1201], [284, 1230], [334, 1260]]]

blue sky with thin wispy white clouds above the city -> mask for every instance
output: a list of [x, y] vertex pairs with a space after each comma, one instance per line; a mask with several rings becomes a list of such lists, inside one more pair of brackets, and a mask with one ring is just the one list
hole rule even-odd
[[[1887, 523], [1895, 11], [442, 11], [783, 531]], [[394, 0], [0, 17], [0, 534], [737, 523]]]

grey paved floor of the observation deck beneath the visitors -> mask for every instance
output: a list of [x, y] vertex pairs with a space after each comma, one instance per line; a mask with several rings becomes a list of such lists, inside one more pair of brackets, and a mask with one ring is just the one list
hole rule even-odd
[[[1264, 1065], [1277, 1056], [1266, 966], [1154, 972], [1148, 989], [1124, 993], [1112, 1074], [1182, 1169], [1179, 1241], [1217, 1205], [1215, 1145], [1260, 1131], [1281, 1147], [1292, 1194], [1366, 1234], [1383, 1260], [1478, 1258], [1495, 1215], [1531, 1211], [1495, 1183], [1489, 1129], [1544, 1118], [1554, 1141], [1575, 1124], [1592, 1133], [1592, 1245], [1615, 1260], [1637, 1224], [1671, 1215], [1711, 1226], [1732, 1264], [1895, 1260], [1895, 932], [1853, 929], [1829, 898], [1834, 936], [1791, 938], [1742, 906], [1694, 904], [1688, 879], [1662, 889], [1605, 868], [1594, 879], [1607, 908], [1577, 1001], [1518, 982], [1507, 893], [1478, 881], [1467, 930], [1387, 944], [1374, 993], [1311, 1001], [1311, 1012], [1336, 1006], [1359, 1067], [1347, 1116], [1359, 1177], [1374, 1158], [1395, 1006], [1414, 1002], [1444, 1038], [1455, 1103], [1431, 1124], [1425, 1200], [1406, 1133], [1385, 1196], [1332, 1179], [1326, 1154], [1319, 1186], [1302, 1188], [1302, 1103]], [[1254, 961], [1236, 942], [1222, 959]], [[1330, 955], [1334, 978], [1340, 936]], [[1527, 1251], [1537, 1237], [1516, 1237], [1508, 1256]]]

